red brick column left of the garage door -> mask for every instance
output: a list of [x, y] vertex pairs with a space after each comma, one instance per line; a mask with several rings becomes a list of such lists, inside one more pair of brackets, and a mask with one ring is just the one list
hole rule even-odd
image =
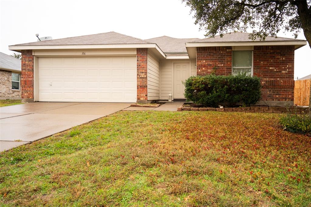
[[34, 101], [34, 56], [32, 50], [21, 51], [21, 99]]

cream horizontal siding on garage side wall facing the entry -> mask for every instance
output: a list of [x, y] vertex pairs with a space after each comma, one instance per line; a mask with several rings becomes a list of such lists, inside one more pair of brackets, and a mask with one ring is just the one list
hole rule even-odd
[[148, 73], [148, 100], [159, 100], [160, 93], [160, 62], [148, 50], [147, 56], [147, 73]]

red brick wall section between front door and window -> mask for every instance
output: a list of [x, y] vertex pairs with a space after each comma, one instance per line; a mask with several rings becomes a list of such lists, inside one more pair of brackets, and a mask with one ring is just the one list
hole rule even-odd
[[216, 67], [216, 75], [229, 75], [232, 72], [232, 47], [197, 48], [197, 75], [210, 74]]

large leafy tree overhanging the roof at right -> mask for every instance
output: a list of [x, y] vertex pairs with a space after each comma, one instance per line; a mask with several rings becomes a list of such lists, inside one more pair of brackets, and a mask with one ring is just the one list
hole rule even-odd
[[[253, 29], [249, 38], [255, 40], [276, 34], [282, 29], [297, 38], [301, 29], [311, 48], [311, 0], [182, 0], [194, 12], [195, 24], [217, 33]], [[310, 89], [311, 94], [311, 89]], [[311, 118], [311, 95], [309, 117]]]

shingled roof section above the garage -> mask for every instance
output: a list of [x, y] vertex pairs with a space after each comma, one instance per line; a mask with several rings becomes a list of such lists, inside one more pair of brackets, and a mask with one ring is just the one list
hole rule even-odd
[[52, 39], [39, 42], [16, 44], [23, 45], [79, 45], [79, 44], [148, 44], [148, 42], [117, 32], [106, 32], [100, 34], [90, 34], [78, 37], [68, 37], [62, 39]]

